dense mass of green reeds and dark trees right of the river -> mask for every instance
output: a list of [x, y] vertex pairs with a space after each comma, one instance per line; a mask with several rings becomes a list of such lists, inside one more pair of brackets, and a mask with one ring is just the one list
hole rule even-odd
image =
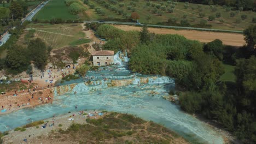
[[[174, 77], [184, 88], [179, 97], [184, 111], [216, 120], [246, 143], [256, 142], [256, 26], [245, 30], [247, 45], [240, 49], [220, 40], [201, 44], [180, 35], [153, 34], [147, 27], [133, 32], [139, 39], [136, 45], [121, 47], [127, 32], [108, 25], [93, 27], [108, 39], [104, 48], [130, 51], [132, 71]], [[236, 82], [219, 80], [223, 62], [236, 65]]]

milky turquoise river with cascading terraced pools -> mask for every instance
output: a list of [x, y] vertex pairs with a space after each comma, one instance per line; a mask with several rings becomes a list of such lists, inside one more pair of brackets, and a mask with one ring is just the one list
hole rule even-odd
[[[125, 64], [129, 59], [120, 58], [120, 53], [114, 56], [114, 61], [119, 65], [88, 71], [84, 80], [90, 85], [80, 82], [56, 87], [53, 104], [0, 115], [0, 131], [50, 118], [54, 113], [63, 115], [85, 109], [108, 110], [130, 113], [162, 124], [191, 143], [224, 143], [222, 136], [212, 128], [162, 98], [174, 89], [174, 79], [131, 73]], [[74, 109], [75, 105], [78, 109]]]

